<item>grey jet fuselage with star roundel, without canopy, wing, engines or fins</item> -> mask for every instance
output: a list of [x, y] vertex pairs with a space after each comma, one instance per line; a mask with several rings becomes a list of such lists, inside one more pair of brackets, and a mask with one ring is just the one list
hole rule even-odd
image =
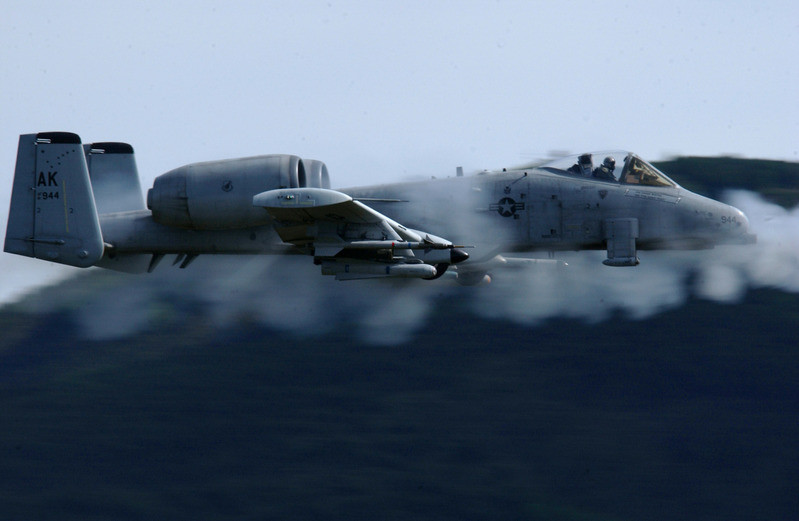
[[[638, 249], [703, 249], [748, 242], [748, 222], [729, 205], [678, 185], [637, 186], [530, 168], [340, 190], [411, 228], [499, 252], [604, 249], [609, 219], [638, 221]], [[147, 210], [100, 216], [117, 253], [286, 253], [271, 224], [186, 230]], [[468, 261], [467, 261], [468, 262]]]

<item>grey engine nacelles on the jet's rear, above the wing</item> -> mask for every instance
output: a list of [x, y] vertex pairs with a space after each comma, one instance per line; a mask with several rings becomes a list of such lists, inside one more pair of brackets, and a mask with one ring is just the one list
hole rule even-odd
[[147, 192], [153, 220], [194, 230], [223, 230], [268, 224], [269, 214], [253, 196], [277, 188], [330, 185], [321, 161], [268, 155], [194, 163], [158, 176]]

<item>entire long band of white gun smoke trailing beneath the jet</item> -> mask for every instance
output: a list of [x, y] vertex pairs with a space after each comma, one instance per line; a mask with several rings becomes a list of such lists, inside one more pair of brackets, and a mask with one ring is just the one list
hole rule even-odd
[[[689, 296], [735, 303], [750, 288], [799, 292], [799, 207], [786, 210], [757, 194], [731, 191], [725, 202], [743, 210], [755, 245], [708, 251], [640, 252], [636, 268], [601, 264], [604, 252], [558, 253], [568, 266], [533, 266], [496, 273], [491, 284], [461, 287], [446, 279], [337, 282], [308, 257], [201, 256], [188, 269], [165, 260], [149, 275], [81, 275], [97, 291], [42, 290], [23, 309], [72, 309], [94, 340], [159, 327], [165, 317], [200, 306], [218, 327], [243, 320], [313, 337], [344, 326], [361, 340], [390, 345], [412, 340], [447, 300], [475, 315], [534, 325], [553, 317], [600, 322], [642, 319], [682, 305]], [[39, 266], [37, 266], [39, 267]], [[87, 276], [91, 275], [91, 276]], [[85, 278], [83, 278], [85, 277]]]

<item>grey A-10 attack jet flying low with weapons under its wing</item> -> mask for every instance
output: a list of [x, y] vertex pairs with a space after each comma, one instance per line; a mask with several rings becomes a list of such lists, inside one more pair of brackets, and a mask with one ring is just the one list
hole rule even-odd
[[[490, 280], [509, 254], [750, 243], [744, 214], [627, 152], [477, 175], [332, 190], [326, 166], [265, 155], [182, 166], [142, 197], [133, 148], [20, 136], [5, 251], [70, 266], [187, 267], [201, 254], [302, 253], [325, 275]], [[524, 263], [519, 259], [518, 262]], [[533, 262], [533, 261], [528, 261]]]

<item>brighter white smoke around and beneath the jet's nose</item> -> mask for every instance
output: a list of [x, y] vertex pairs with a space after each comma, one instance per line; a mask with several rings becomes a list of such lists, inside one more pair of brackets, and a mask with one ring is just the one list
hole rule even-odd
[[747, 214], [754, 245], [709, 251], [640, 252], [636, 268], [601, 265], [603, 252], [560, 256], [569, 264], [539, 270], [507, 284], [498, 280], [476, 313], [536, 323], [555, 317], [588, 322], [613, 313], [640, 319], [682, 305], [690, 295], [724, 303], [740, 301], [749, 288], [799, 292], [799, 207], [786, 210], [760, 195], [731, 191], [725, 200]]

